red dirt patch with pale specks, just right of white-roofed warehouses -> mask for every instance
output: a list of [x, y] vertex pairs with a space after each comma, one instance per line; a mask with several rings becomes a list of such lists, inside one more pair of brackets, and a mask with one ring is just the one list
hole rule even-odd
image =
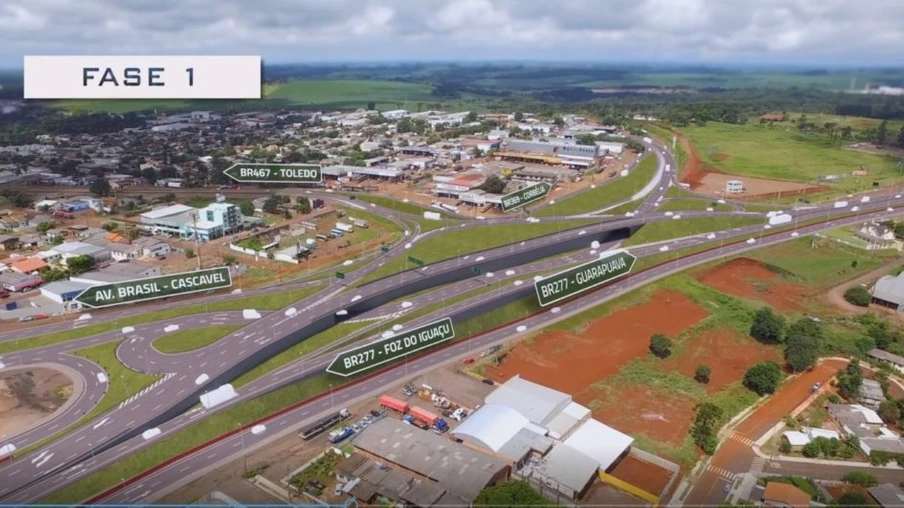
[[591, 388], [575, 399], [593, 407], [593, 417], [610, 427], [675, 447], [684, 443], [697, 405], [685, 395], [628, 386], [605, 392]]

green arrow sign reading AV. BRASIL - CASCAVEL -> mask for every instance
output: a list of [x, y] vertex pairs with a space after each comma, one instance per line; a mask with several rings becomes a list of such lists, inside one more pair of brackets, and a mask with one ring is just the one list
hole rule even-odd
[[169, 296], [228, 288], [231, 285], [232, 276], [229, 268], [224, 266], [196, 272], [91, 286], [79, 293], [74, 301], [99, 309], [124, 303], [144, 302]]

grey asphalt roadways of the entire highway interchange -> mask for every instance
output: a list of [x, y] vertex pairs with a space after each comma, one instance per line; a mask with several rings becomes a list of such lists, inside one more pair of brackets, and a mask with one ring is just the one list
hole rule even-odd
[[[153, 389], [146, 391], [141, 396], [131, 398], [128, 403], [120, 404], [106, 414], [41, 448], [38, 452], [0, 465], [0, 501], [3, 503], [36, 503], [49, 493], [77, 482], [90, 473], [114, 464], [121, 458], [149, 446], [155, 439], [160, 439], [156, 437], [146, 440], [142, 437], [141, 433], [151, 427], [158, 428], [162, 436], [170, 435], [199, 419], [220, 412], [237, 403], [322, 372], [333, 357], [333, 354], [324, 354], [327, 348], [320, 348], [295, 362], [288, 363], [282, 368], [249, 382], [238, 390], [238, 397], [226, 403], [210, 409], [187, 411], [191, 406], [195, 405], [200, 393], [213, 389], [221, 383], [228, 382], [235, 377], [237, 372], [248, 370], [253, 367], [254, 363], [259, 363], [259, 361], [252, 362], [248, 360], [255, 352], [267, 351], [269, 353], [270, 351], [278, 352], [285, 349], [291, 346], [292, 343], [303, 339], [303, 337], [299, 337], [295, 333], [298, 330], [320, 322], [327, 323], [326, 326], [329, 326], [340, 321], [336, 313], [341, 310], [348, 309], [348, 317], [351, 319], [373, 319], [374, 325], [372, 328], [378, 328], [379, 326], [385, 328], [387, 324], [399, 318], [404, 318], [405, 314], [413, 310], [435, 305], [445, 301], [450, 296], [482, 287], [487, 282], [486, 274], [477, 277], [473, 276], [473, 274], [470, 276], [462, 275], [466, 271], [464, 270], [465, 268], [474, 264], [491, 268], [494, 266], [498, 267], [492, 268], [492, 282], [511, 281], [511, 284], [500, 285], [500, 287], [491, 292], [477, 295], [450, 305], [447, 308], [421, 316], [413, 321], [405, 322], [405, 328], [431, 322], [438, 317], [453, 315], [459, 311], [473, 308], [491, 308], [492, 302], [498, 301], [505, 296], [515, 293], [527, 294], [525, 292], [529, 292], [532, 288], [532, 274], [558, 271], [560, 268], [565, 268], [578, 262], [595, 259], [599, 256], [600, 250], [617, 247], [617, 239], [606, 237], [607, 232], [634, 228], [653, 221], [676, 220], [674, 215], [667, 216], [655, 211], [657, 204], [665, 196], [669, 185], [675, 183], [674, 172], [667, 170], [674, 168], [675, 162], [671, 154], [663, 147], [654, 147], [653, 151], [659, 159], [658, 171], [654, 181], [645, 189], [649, 193], [645, 196], [643, 203], [636, 209], [633, 217], [582, 215], [581, 217], [596, 217], [599, 221], [582, 228], [433, 263], [417, 270], [409, 270], [354, 288], [353, 286], [356, 282], [366, 277], [381, 264], [396, 256], [406, 255], [407, 248], [412, 243], [416, 243], [429, 235], [440, 234], [442, 231], [435, 230], [430, 232], [429, 235], [422, 235], [415, 226], [412, 230], [407, 230], [407, 237], [388, 253], [378, 257], [374, 262], [368, 263], [364, 268], [349, 273], [347, 279], [343, 281], [344, 285], [332, 284], [292, 304], [291, 307], [297, 313], [287, 313], [285, 309], [269, 313], [261, 311], [260, 317], [250, 320], [246, 319], [242, 312], [216, 312], [186, 316], [167, 319], [165, 322], [137, 325], [134, 327], [134, 331], [129, 331], [127, 334], [116, 330], [52, 346], [4, 355], [0, 361], [7, 367], [37, 363], [63, 365], [68, 369], [67, 371], [78, 373], [79, 382], [83, 384], [84, 388], [78, 399], [62, 414], [56, 416], [50, 422], [16, 436], [11, 442], [19, 449], [54, 435], [60, 429], [75, 423], [100, 400], [106, 389], [106, 383], [115, 382], [115, 380], [105, 379], [101, 368], [96, 364], [84, 358], [69, 355], [67, 352], [111, 340], [125, 339], [117, 350], [118, 358], [125, 365], [137, 371], [161, 373], [166, 374], [166, 376], [158, 383], [155, 383]], [[346, 206], [361, 208], [361, 205], [354, 201], [348, 201], [339, 196], [329, 197], [342, 201]], [[92, 499], [92, 501], [110, 503], [149, 502], [153, 497], [163, 495], [165, 493], [164, 487], [175, 488], [190, 478], [202, 474], [203, 471], [208, 470], [214, 464], [228, 460], [237, 453], [241, 453], [242, 449], [251, 449], [256, 445], [274, 439], [281, 431], [283, 433], [289, 432], [306, 421], [329, 411], [331, 407], [340, 404], [347, 405], [356, 399], [378, 393], [386, 385], [403, 381], [414, 373], [435, 368], [443, 363], [456, 361], [473, 354], [474, 351], [483, 350], [491, 345], [510, 341], [515, 336], [543, 328], [554, 321], [580, 312], [587, 307], [599, 305], [639, 286], [697, 264], [706, 263], [720, 257], [736, 255], [745, 250], [764, 245], [788, 241], [797, 235], [812, 234], [823, 229], [853, 224], [871, 218], [888, 217], [897, 213], [894, 210], [889, 211], [888, 208], [897, 206], [900, 202], [900, 198], [889, 195], [876, 197], [870, 202], [857, 203], [861, 209], [856, 216], [851, 216], [852, 211], [849, 206], [835, 208], [832, 204], [810, 207], [806, 210], [796, 210], [791, 212], [795, 222], [836, 218], [820, 224], [800, 226], [795, 228], [793, 232], [773, 233], [764, 229], [763, 225], [755, 225], [718, 232], [712, 236], [702, 235], [667, 242], [665, 245], [668, 245], [670, 250], [712, 242], [720, 242], [720, 246], [697, 254], [678, 257], [674, 261], [611, 283], [605, 286], [603, 290], [593, 291], [592, 294], [586, 294], [562, 302], [561, 305], [553, 310], [545, 310], [526, 316], [517, 324], [513, 323], [475, 336], [469, 340], [457, 341], [444, 347], [429, 350], [426, 354], [418, 356], [404, 365], [382, 369], [370, 377], [345, 386], [337, 386], [328, 397], [321, 396], [268, 420], [265, 423], [268, 430], [265, 432], [253, 433], [250, 429], [245, 429], [233, 436], [204, 447], [196, 453], [189, 454], [178, 461], [149, 471], [144, 477], [125, 485], [119, 490], [111, 491], [108, 495], [104, 495], [101, 498]], [[401, 218], [404, 218], [404, 214], [398, 212], [380, 209], [379, 207], [372, 208], [375, 208], [378, 213], [392, 217], [399, 223], [401, 223]], [[714, 215], [740, 216], [742, 213], [695, 211], [680, 215], [683, 216], [682, 218], [691, 218]], [[762, 216], [762, 214], [749, 213], [744, 213], [744, 215]], [[558, 218], [558, 220], [573, 220], [574, 218], [574, 216], [563, 217]], [[523, 222], [524, 220], [524, 218], [506, 218], [468, 221], [443, 229], [481, 227], [494, 223]], [[556, 219], [544, 218], [543, 220], [551, 221]], [[748, 243], [750, 242], [749, 239], [753, 239], [752, 243]], [[590, 243], [594, 240], [602, 241], [602, 245], [597, 250], [591, 251]], [[567, 242], [581, 242], [585, 247], [568, 253], [562, 252], [561, 254], [565, 254], [564, 256], [554, 259], [538, 254], [536, 258], [528, 260], [528, 262], [511, 266], [508, 264], [508, 258], [514, 254], [533, 252], [533, 250], [538, 253], [546, 252], [543, 249], [549, 249], [550, 246]], [[630, 251], [638, 258], [643, 258], [661, 254], [663, 246], [662, 244], [657, 244], [633, 247]], [[487, 271], [491, 270], [488, 269]], [[431, 280], [443, 280], [447, 284], [441, 286], [440, 284], [435, 284], [440, 287], [429, 290]], [[247, 291], [242, 293], [241, 296], [262, 294], [286, 287], [289, 286], [282, 285], [276, 289], [267, 288]], [[291, 287], [301, 287], [301, 284], [295, 284]], [[398, 300], [400, 298], [422, 289], [428, 290], [408, 298], [407, 302], [409, 305], [407, 307], [399, 304]], [[191, 302], [195, 304], [237, 296], [213, 295], [193, 299]], [[146, 312], [179, 304], [180, 302], [164, 302], [142, 307], [141, 311]], [[356, 306], [360, 310], [355, 310]], [[114, 321], [131, 314], [134, 314], [134, 309], [115, 309], [96, 313], [91, 322]], [[383, 319], [380, 319], [381, 317]], [[152, 341], [161, 336], [164, 333], [164, 327], [167, 326], [178, 325], [181, 329], [191, 329], [213, 324], [243, 323], [248, 324], [214, 344], [196, 351], [178, 355], [165, 355], [157, 352], [151, 346]], [[4, 332], [0, 333], [0, 342], [35, 336], [50, 331], [65, 330], [72, 326], [72, 323], [69, 322], [28, 330]], [[312, 335], [312, 333], [308, 335]], [[364, 340], [369, 341], [378, 338], [379, 335], [372, 335]], [[330, 345], [330, 347], [335, 347], [335, 344]], [[268, 350], [267, 348], [270, 349]], [[242, 364], [243, 359], [245, 364]], [[161, 415], [165, 416], [161, 417]], [[0, 445], [3, 444], [7, 443], [0, 443]], [[78, 502], [81, 500], [73, 499], [69, 501]]]

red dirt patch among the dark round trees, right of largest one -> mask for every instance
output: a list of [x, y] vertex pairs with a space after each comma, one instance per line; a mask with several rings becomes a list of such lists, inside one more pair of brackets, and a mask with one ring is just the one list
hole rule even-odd
[[761, 361], [773, 360], [781, 363], [778, 348], [760, 344], [742, 337], [731, 328], [707, 330], [684, 343], [687, 349], [663, 361], [665, 371], [681, 372], [694, 377], [698, 365], [707, 365], [712, 370], [706, 391], [714, 393], [744, 378], [749, 367]]

